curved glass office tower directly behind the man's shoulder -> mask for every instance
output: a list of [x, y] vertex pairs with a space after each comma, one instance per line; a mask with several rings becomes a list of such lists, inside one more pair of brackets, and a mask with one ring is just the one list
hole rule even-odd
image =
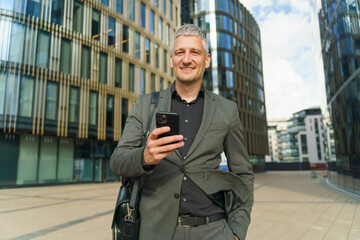
[[190, 6], [212, 56], [204, 85], [237, 102], [254, 169], [264, 170], [268, 139], [259, 26], [238, 0], [198, 0]]

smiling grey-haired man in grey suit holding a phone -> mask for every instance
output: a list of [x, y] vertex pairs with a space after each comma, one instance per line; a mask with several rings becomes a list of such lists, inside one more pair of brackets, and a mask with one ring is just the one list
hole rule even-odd
[[[253, 171], [237, 106], [204, 89], [210, 66], [204, 33], [195, 25], [175, 32], [170, 66], [175, 82], [160, 92], [157, 111], [181, 116], [181, 135], [159, 138], [155, 128], [141, 146], [150, 95], [135, 103], [111, 168], [124, 177], [143, 176], [140, 239], [244, 240], [253, 204]], [[229, 172], [219, 170], [225, 152]]]

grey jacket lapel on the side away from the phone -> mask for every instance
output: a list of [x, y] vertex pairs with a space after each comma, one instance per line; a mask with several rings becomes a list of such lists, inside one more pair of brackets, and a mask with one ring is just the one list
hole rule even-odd
[[194, 150], [197, 148], [201, 140], [203, 139], [205, 133], [207, 132], [207, 129], [209, 128], [211, 121], [214, 117], [216, 104], [215, 99], [212, 98], [208, 94], [208, 90], [205, 90], [205, 99], [204, 99], [204, 112], [203, 112], [203, 118], [201, 120], [201, 125], [198, 133], [196, 134], [196, 137], [194, 139], [194, 142], [192, 143], [189, 152], [186, 156], [186, 160], [191, 159], [189, 156], [194, 152]]

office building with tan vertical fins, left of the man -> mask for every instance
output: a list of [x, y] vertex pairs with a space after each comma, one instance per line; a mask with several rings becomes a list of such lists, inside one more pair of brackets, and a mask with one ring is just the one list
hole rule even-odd
[[0, 1], [0, 186], [114, 180], [140, 94], [173, 81], [177, 0]]

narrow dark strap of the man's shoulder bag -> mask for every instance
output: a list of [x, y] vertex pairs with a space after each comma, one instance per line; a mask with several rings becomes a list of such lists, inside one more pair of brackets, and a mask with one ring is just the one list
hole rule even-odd
[[[142, 146], [144, 146], [146, 144], [146, 139], [150, 134], [149, 131], [150, 131], [150, 126], [151, 126], [151, 120], [152, 120], [152, 117], [154, 115], [155, 108], [157, 107], [157, 105], [159, 103], [159, 95], [160, 95], [159, 92], [152, 92], [151, 93], [150, 115], [149, 115], [149, 118], [148, 118], [146, 130], [144, 131], [144, 134], [143, 134]], [[132, 188], [132, 191], [131, 191], [131, 198], [130, 198], [130, 203], [129, 203], [129, 206], [132, 209], [135, 207], [135, 204], [136, 204], [136, 201], [137, 201], [137, 198], [138, 198], [139, 182], [140, 181], [139, 181], [138, 177], [134, 178], [134, 183], [133, 183], [133, 188]]]

